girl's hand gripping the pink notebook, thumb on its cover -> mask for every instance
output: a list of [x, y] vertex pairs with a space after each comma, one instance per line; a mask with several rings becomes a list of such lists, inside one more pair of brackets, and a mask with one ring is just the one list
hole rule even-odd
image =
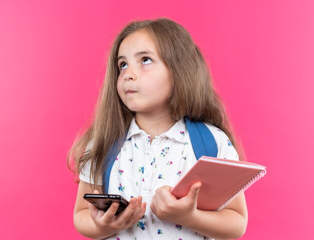
[[194, 183], [189, 193], [177, 199], [170, 190], [171, 186], [163, 186], [156, 190], [150, 204], [151, 211], [162, 220], [184, 225], [197, 212], [197, 196], [202, 183]]

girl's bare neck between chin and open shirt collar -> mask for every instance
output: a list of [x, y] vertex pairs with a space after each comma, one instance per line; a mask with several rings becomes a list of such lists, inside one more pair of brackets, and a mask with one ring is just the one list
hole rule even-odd
[[140, 129], [150, 135], [150, 139], [167, 132], [175, 124], [170, 114], [165, 112], [150, 116], [136, 113], [135, 121]]

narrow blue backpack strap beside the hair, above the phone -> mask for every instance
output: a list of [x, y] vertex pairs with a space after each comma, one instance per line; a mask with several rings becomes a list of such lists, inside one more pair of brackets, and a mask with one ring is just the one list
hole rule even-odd
[[124, 138], [121, 141], [116, 141], [113, 143], [113, 146], [111, 148], [111, 150], [109, 151], [106, 160], [105, 160], [105, 164], [108, 164], [107, 166], [104, 166], [105, 171], [103, 173], [102, 176], [102, 181], [103, 181], [103, 186], [104, 186], [104, 193], [108, 194], [108, 190], [109, 190], [109, 180], [110, 180], [110, 172], [112, 169], [112, 166], [114, 164], [115, 159], [117, 158], [117, 156], [119, 155], [119, 152], [121, 150], [122, 147], [122, 143], [124, 143], [124, 140], [126, 138], [126, 134], [128, 132], [128, 129], [126, 129]]

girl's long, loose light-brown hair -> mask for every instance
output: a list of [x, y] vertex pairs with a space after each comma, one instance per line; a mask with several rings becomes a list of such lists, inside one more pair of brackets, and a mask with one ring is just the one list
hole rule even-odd
[[[119, 68], [117, 55], [121, 42], [136, 31], [145, 31], [151, 37], [161, 60], [170, 70], [172, 94], [170, 115], [174, 122], [188, 117], [192, 121], [211, 123], [226, 133], [244, 160], [242, 147], [236, 143], [231, 123], [219, 95], [216, 93], [210, 70], [189, 32], [180, 24], [166, 18], [129, 23], [114, 40], [108, 56], [104, 85], [99, 95], [91, 123], [78, 135], [69, 151], [67, 163], [78, 174], [91, 159], [91, 177], [94, 188], [107, 162], [106, 156], [114, 142], [121, 141], [135, 113], [127, 109], [117, 93]], [[86, 150], [92, 141], [92, 147]]]

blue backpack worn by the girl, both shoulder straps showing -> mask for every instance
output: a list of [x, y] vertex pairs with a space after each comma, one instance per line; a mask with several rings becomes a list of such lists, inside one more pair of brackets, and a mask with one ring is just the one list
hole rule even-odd
[[[208, 127], [202, 122], [192, 122], [188, 118], [185, 118], [185, 121], [196, 159], [198, 160], [201, 156], [217, 157], [217, 143]], [[127, 132], [128, 131], [126, 131], [125, 133], [124, 139], [126, 138]], [[120, 152], [120, 149], [121, 147], [119, 147], [119, 144], [115, 142], [106, 158], [105, 162], [108, 162], [109, 165], [103, 174], [103, 185], [105, 194], [108, 194], [110, 172], [114, 161]]]

